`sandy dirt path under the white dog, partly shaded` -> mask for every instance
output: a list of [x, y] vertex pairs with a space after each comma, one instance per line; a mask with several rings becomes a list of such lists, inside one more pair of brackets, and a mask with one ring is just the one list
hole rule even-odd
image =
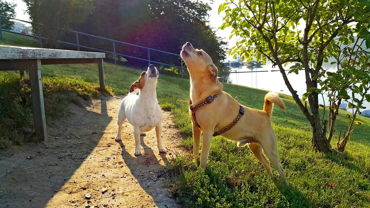
[[0, 207], [180, 207], [163, 186], [165, 175], [158, 177], [165, 161], [181, 151], [171, 114], [163, 112], [162, 120], [167, 153], [159, 154], [153, 129], [141, 136], [144, 154], [135, 157], [127, 121], [122, 142], [114, 140], [121, 99], [71, 105], [70, 117], [48, 123], [46, 144], [0, 151]]

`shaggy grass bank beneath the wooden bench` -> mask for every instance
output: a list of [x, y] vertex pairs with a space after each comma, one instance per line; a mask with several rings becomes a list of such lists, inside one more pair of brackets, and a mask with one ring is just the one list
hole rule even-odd
[[[98, 84], [78, 78], [43, 77], [42, 82], [47, 120], [65, 117], [68, 103], [81, 106], [81, 99], [101, 95]], [[105, 94], [113, 93], [107, 88]], [[14, 71], [0, 72], [0, 148], [34, 139], [31, 101], [28, 78], [20, 79]]]

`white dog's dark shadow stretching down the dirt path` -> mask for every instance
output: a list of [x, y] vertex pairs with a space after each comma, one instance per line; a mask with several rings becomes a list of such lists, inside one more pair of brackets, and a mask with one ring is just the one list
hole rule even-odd
[[[130, 150], [132, 152], [129, 154], [123, 142], [118, 141], [122, 148], [122, 159], [125, 161], [127, 168], [129, 168], [131, 174], [136, 178], [141, 188], [153, 198], [157, 207], [177, 207], [175, 200], [169, 197], [169, 193], [163, 185], [165, 166], [157, 159], [152, 148], [145, 144], [144, 137], [146, 136], [140, 136], [140, 144], [144, 148], [144, 151], [142, 151], [142, 155], [138, 155], [137, 157], [131, 155], [134, 154], [134, 149]], [[159, 153], [164, 164], [168, 162], [166, 154], [168, 153]], [[139, 194], [139, 192], [137, 194]], [[142, 195], [142, 193], [140, 194]]]

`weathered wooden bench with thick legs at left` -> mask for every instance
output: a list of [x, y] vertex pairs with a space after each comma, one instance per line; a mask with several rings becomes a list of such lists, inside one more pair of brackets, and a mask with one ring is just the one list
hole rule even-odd
[[38, 140], [47, 141], [41, 66], [46, 64], [96, 63], [99, 70], [100, 90], [105, 91], [103, 58], [105, 58], [105, 53], [0, 46], [0, 71], [19, 70], [21, 77], [23, 77], [24, 70], [28, 70], [33, 119]]

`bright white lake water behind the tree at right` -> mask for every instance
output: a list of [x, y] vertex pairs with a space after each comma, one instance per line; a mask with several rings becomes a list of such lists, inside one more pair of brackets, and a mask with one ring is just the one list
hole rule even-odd
[[[288, 64], [285, 69], [289, 69], [294, 64]], [[336, 65], [330, 65], [329, 63], [324, 63], [323, 68], [329, 71], [336, 71]], [[236, 72], [236, 73], [235, 73]], [[288, 74], [287, 77], [292, 85], [293, 89], [297, 91], [297, 94], [302, 99], [302, 95], [306, 93], [306, 78], [305, 73], [300, 71], [299, 74]], [[275, 91], [278, 93], [284, 93], [287, 95], [292, 95], [285, 85], [283, 76], [279, 71], [278, 67], [273, 67], [272, 63], [266, 63], [263, 66], [241, 66], [239, 68], [231, 68], [231, 74], [229, 80], [232, 84], [243, 85], [247, 87], [258, 88], [267, 91]], [[319, 96], [320, 104], [329, 104], [329, 98], [324, 96], [324, 100]], [[369, 103], [364, 103], [364, 107], [370, 108]]]

